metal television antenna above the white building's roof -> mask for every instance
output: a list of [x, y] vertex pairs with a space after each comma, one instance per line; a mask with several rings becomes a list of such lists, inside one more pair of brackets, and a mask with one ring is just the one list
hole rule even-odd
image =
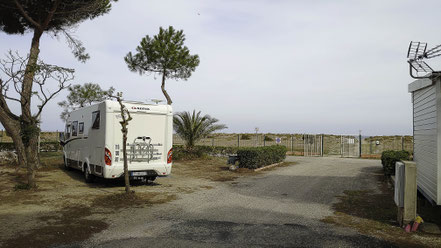
[[[424, 60], [438, 56], [441, 56], [441, 45], [427, 50], [427, 42], [411, 41], [407, 50], [410, 76], [415, 79], [430, 78], [435, 71]], [[424, 75], [420, 76], [422, 73]]]

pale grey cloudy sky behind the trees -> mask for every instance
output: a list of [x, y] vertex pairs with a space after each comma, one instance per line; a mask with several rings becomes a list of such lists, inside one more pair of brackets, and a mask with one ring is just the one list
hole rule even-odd
[[[201, 110], [227, 132], [411, 134], [407, 47], [441, 43], [440, 10], [435, 0], [121, 0], [76, 29], [87, 63], [50, 36], [41, 58], [74, 68], [76, 84], [113, 86], [130, 100], [164, 99], [160, 77], [130, 72], [123, 57], [172, 25], [201, 60], [188, 81], [167, 82], [175, 111]], [[26, 54], [30, 40], [1, 33], [0, 55]], [[63, 129], [56, 103], [66, 94], [47, 106], [43, 130]]]

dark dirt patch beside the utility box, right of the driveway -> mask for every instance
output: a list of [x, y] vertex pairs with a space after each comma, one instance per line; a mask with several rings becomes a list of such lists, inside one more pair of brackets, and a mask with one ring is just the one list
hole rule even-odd
[[[377, 179], [377, 190], [346, 190], [333, 205], [334, 215], [323, 221], [354, 228], [360, 233], [387, 240], [397, 247], [441, 247], [439, 235], [421, 231], [406, 233], [399, 227], [390, 181], [381, 169], [372, 171], [371, 176]], [[435, 220], [422, 213], [420, 215], [427, 221]]]

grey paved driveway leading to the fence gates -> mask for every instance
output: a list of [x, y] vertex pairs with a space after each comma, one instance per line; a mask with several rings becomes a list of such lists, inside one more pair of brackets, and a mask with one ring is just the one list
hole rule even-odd
[[288, 157], [297, 165], [123, 211], [84, 247], [390, 247], [325, 224], [335, 196], [374, 189], [378, 160]]

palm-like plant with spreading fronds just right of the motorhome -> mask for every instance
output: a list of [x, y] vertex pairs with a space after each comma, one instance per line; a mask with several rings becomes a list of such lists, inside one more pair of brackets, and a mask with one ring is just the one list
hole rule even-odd
[[187, 150], [192, 150], [195, 143], [209, 134], [227, 128], [224, 124], [216, 124], [219, 120], [209, 115], [201, 115], [201, 111], [193, 110], [176, 113], [173, 117], [173, 128], [185, 142]]

